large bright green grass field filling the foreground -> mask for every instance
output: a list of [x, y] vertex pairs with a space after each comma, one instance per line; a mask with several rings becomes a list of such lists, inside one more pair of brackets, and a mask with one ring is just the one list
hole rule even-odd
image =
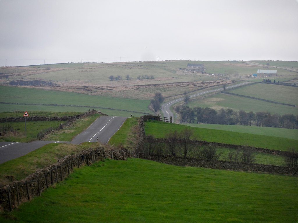
[[106, 160], [75, 169], [0, 220], [288, 223], [298, 220], [297, 186], [290, 176]]

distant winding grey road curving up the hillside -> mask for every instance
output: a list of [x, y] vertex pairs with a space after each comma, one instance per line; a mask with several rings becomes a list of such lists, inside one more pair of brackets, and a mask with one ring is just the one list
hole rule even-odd
[[[226, 87], [226, 89], [233, 88], [233, 87], [239, 87], [239, 86], [249, 84], [249, 83], [251, 83], [251, 82], [244, 82], [244, 83], [241, 83], [241, 84], [235, 84], [235, 85]], [[194, 94], [194, 95], [190, 95], [189, 97], [194, 98], [194, 97], [204, 95], [204, 94], [207, 94], [207, 93], [210, 93], [210, 92], [222, 91], [222, 90], [224, 90], [224, 89], [221, 87], [221, 88], [218, 88], [218, 89], [213, 89], [213, 90], [197, 93], [197, 94]], [[172, 100], [172, 101], [169, 101], [169, 102], [166, 102], [166, 103], [162, 104], [161, 110], [162, 110], [162, 113], [164, 114], [164, 117], [171, 117], [172, 116], [173, 117], [173, 123], [174, 123], [174, 115], [173, 115], [173, 112], [171, 112], [171, 110], [170, 110], [170, 106], [172, 106], [173, 104], [176, 104], [177, 102], [182, 101], [182, 100], [184, 100], [184, 98], [175, 99], [175, 100]]]

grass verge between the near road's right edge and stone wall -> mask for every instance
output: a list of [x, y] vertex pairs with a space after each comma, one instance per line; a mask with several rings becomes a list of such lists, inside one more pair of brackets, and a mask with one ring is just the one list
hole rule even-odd
[[139, 118], [130, 117], [125, 120], [119, 130], [110, 138], [108, 144], [115, 147], [134, 147], [137, 142], [137, 127]]

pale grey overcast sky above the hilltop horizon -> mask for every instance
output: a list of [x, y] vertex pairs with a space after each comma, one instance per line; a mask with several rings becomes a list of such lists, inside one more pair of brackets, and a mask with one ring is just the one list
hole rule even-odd
[[0, 0], [0, 30], [0, 66], [298, 61], [298, 0]]

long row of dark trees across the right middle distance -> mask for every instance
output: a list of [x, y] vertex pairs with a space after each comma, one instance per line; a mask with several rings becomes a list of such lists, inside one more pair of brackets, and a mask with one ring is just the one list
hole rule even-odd
[[270, 112], [245, 112], [243, 110], [194, 107], [187, 105], [175, 106], [175, 112], [180, 114], [181, 122], [207, 123], [221, 125], [256, 125], [276, 128], [298, 129], [298, 116], [294, 114], [271, 114]]

